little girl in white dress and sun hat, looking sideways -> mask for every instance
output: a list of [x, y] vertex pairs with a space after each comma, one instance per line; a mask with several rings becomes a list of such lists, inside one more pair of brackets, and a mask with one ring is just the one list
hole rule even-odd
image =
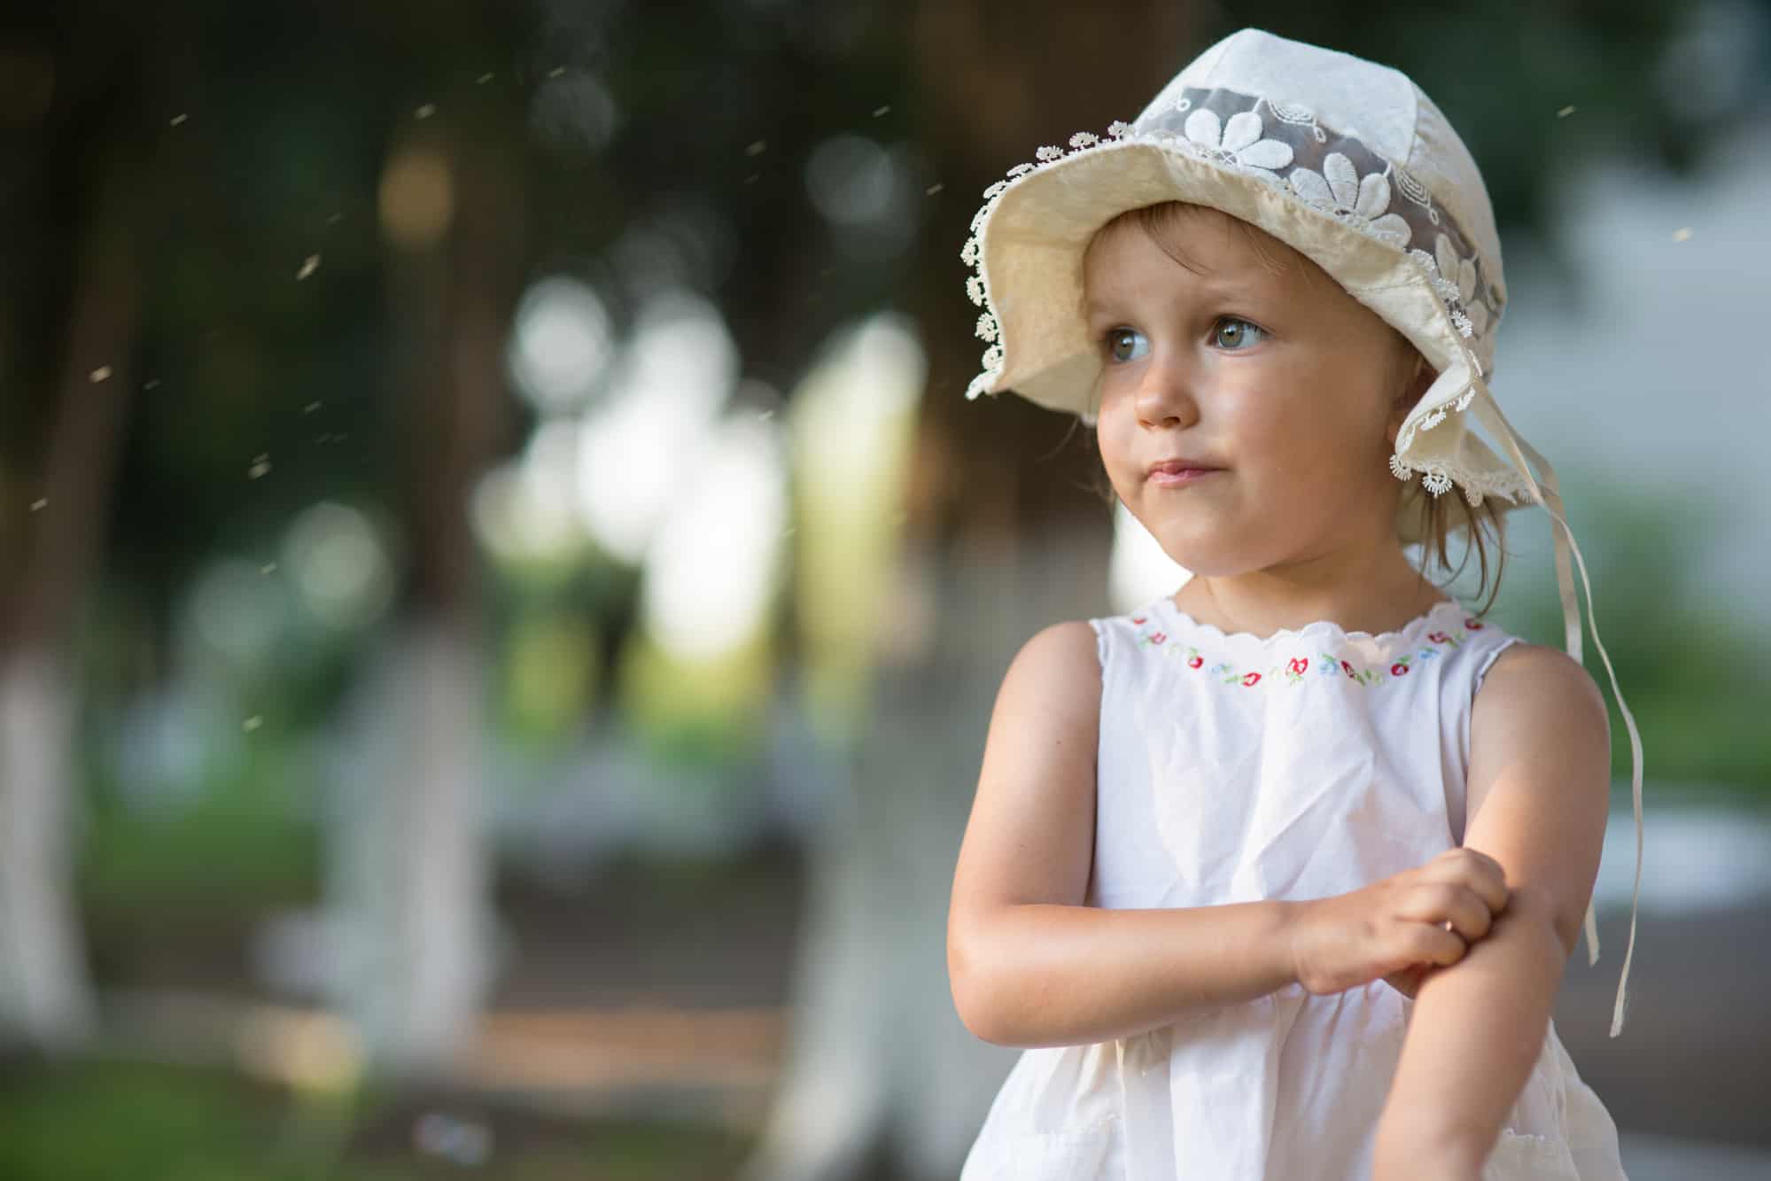
[[[1002, 682], [947, 949], [1025, 1052], [963, 1181], [1624, 1177], [1550, 1022], [1582, 915], [1597, 958], [1610, 722], [1555, 473], [1484, 381], [1475, 163], [1406, 76], [1254, 28], [1070, 147], [972, 223], [969, 397], [1093, 425], [1192, 579]], [[1532, 503], [1567, 653], [1404, 556]]]

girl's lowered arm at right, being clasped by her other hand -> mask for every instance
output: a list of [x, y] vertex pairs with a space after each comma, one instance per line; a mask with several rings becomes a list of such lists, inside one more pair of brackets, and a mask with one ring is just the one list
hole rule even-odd
[[1599, 871], [1610, 772], [1610, 717], [1587, 671], [1541, 645], [1504, 652], [1472, 706], [1465, 845], [1505, 868], [1512, 894], [1415, 995], [1376, 1181], [1481, 1174], [1543, 1052]]

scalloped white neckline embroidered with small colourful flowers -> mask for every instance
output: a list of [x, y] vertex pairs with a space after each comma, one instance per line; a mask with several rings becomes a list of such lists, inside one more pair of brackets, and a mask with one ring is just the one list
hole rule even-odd
[[[1156, 618], [1158, 614], [1162, 618]], [[1472, 632], [1486, 627], [1456, 598], [1440, 600], [1426, 614], [1415, 616], [1394, 632], [1380, 632], [1378, 636], [1348, 632], [1332, 620], [1316, 620], [1300, 629], [1280, 629], [1264, 637], [1252, 632], [1226, 634], [1211, 623], [1201, 623], [1187, 614], [1167, 595], [1148, 604], [1130, 620], [1137, 627], [1139, 645], [1151, 646], [1188, 669], [1197, 669], [1203, 676], [1211, 676], [1226, 685], [1240, 683], [1247, 689], [1280, 680], [1295, 685], [1305, 676], [1332, 676], [1335, 673], [1362, 685], [1397, 680], [1408, 676], [1415, 664], [1458, 648]], [[1188, 639], [1197, 639], [1206, 645], [1206, 650], [1187, 643]], [[1360, 641], [1362, 648], [1376, 645], [1380, 660], [1373, 664], [1365, 659], [1348, 659], [1358, 655], [1346, 650], [1346, 645], [1353, 641]], [[1381, 652], [1388, 648], [1394, 650]]]

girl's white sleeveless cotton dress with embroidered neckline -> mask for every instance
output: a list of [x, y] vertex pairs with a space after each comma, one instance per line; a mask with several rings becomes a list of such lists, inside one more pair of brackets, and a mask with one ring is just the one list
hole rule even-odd
[[[1470, 706], [1518, 643], [1436, 604], [1371, 636], [1226, 636], [1160, 597], [1102, 664], [1087, 905], [1342, 894], [1463, 841]], [[1291, 984], [1114, 1041], [1024, 1050], [962, 1181], [1369, 1181], [1413, 1000]], [[1548, 1027], [1484, 1181], [1619, 1181], [1617, 1126]]]

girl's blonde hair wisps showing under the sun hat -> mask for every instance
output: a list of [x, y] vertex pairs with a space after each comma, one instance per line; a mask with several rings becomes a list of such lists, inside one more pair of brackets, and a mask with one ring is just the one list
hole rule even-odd
[[[1190, 271], [1199, 271], [1201, 267], [1192, 259], [1185, 257], [1181, 250], [1176, 246], [1174, 239], [1169, 235], [1169, 228], [1174, 227], [1174, 223], [1179, 218], [1199, 216], [1203, 212], [1218, 214], [1234, 221], [1236, 227], [1241, 230], [1243, 237], [1249, 241], [1249, 246], [1254, 250], [1256, 257], [1261, 260], [1261, 266], [1272, 271], [1273, 274], [1296, 271], [1303, 274], [1305, 282], [1314, 283], [1318, 282], [1318, 274], [1323, 273], [1321, 267], [1311, 264], [1309, 259], [1300, 255], [1296, 250], [1293, 250], [1286, 243], [1280, 243], [1279, 239], [1268, 234], [1263, 234], [1259, 228], [1249, 225], [1241, 218], [1233, 218], [1231, 214], [1226, 214], [1218, 209], [1211, 209], [1210, 205], [1195, 205], [1192, 202], [1178, 202], [1178, 200], [1158, 202], [1155, 205], [1142, 205], [1139, 209], [1126, 209], [1125, 212], [1121, 212], [1119, 216], [1112, 218], [1103, 227], [1100, 227], [1098, 230], [1094, 230], [1094, 235], [1089, 239], [1087, 248], [1084, 248], [1084, 255], [1103, 235], [1118, 234], [1128, 228], [1137, 228], [1142, 230], [1149, 237], [1149, 241], [1153, 241], [1162, 250], [1162, 253], [1169, 255], [1171, 259], [1174, 259]], [[1282, 257], [1279, 259], [1272, 257], [1270, 253], [1270, 246], [1275, 243], [1282, 250]], [[1373, 312], [1373, 315], [1376, 315], [1376, 312]], [[1422, 358], [1420, 351], [1415, 349], [1406, 336], [1396, 331], [1392, 324], [1385, 322], [1385, 326], [1396, 336], [1397, 359], [1399, 361], [1413, 359], [1413, 365], [1410, 365], [1408, 372], [1410, 374], [1419, 372], [1417, 367], [1426, 365], [1427, 363], [1426, 358]], [[1094, 390], [1089, 393], [1091, 409], [1096, 405], [1098, 398], [1100, 398], [1100, 379], [1096, 377]], [[1079, 418], [1077, 421], [1080, 423], [1082, 420]], [[1093, 427], [1086, 425], [1086, 428], [1089, 436], [1094, 434]], [[1112, 483], [1107, 480], [1107, 467], [1100, 460], [1098, 441], [1094, 443], [1091, 452], [1094, 453], [1094, 471], [1089, 490], [1094, 492], [1102, 499], [1102, 503], [1112, 506], [1118, 494], [1114, 492]], [[1452, 519], [1452, 512], [1459, 515]], [[1450, 535], [1459, 528], [1466, 529], [1468, 542], [1465, 545], [1463, 561], [1458, 563], [1456, 570], [1450, 570], [1450, 556], [1447, 545]], [[1484, 536], [1486, 531], [1493, 531], [1493, 538]], [[1477, 560], [1481, 563], [1481, 583], [1475, 590], [1475, 597], [1481, 597], [1484, 590], [1489, 591], [1488, 602], [1482, 604], [1477, 614], [1488, 614], [1488, 609], [1495, 604], [1495, 597], [1500, 593], [1500, 575], [1505, 570], [1507, 563], [1505, 517], [1502, 515], [1502, 508], [1495, 503], [1495, 499], [1486, 498], [1481, 506], [1472, 508], [1470, 503], [1463, 496], [1458, 496], [1456, 492], [1440, 496], [1429, 494], [1420, 501], [1420, 519], [1419, 519], [1419, 528], [1415, 529], [1415, 536], [1424, 538], [1420, 542], [1422, 581], [1426, 581], [1427, 577], [1426, 570], [1427, 565], [1431, 563], [1442, 570], [1450, 570], [1450, 577], [1447, 577], [1445, 583], [1452, 583], [1459, 574], [1463, 574], [1465, 567], [1470, 565], [1470, 551], [1472, 549], [1475, 551]], [[1493, 584], [1489, 584], [1489, 561], [1488, 561], [1489, 540], [1493, 540], [1495, 549], [1498, 552], [1498, 560], [1493, 572]], [[1435, 583], [1435, 586], [1445, 590], [1445, 583]]]

